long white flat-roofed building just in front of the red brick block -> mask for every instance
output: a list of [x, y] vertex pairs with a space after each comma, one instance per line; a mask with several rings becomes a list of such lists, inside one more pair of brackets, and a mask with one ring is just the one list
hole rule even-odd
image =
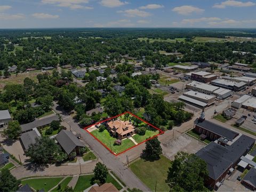
[[198, 91], [205, 94], [213, 94], [219, 99], [228, 98], [232, 94], [231, 90], [223, 89], [217, 86], [208, 85], [208, 84], [196, 82], [196, 81], [188, 83], [186, 87], [187, 89], [190, 89], [193, 91]]

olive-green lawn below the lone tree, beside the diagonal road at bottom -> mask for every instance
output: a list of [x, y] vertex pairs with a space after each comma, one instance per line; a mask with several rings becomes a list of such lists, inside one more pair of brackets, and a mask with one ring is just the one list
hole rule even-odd
[[152, 191], [169, 191], [170, 187], [165, 182], [167, 178], [167, 171], [170, 167], [171, 161], [161, 155], [158, 161], [150, 162], [144, 159], [139, 159], [130, 165], [132, 172], [145, 183]]

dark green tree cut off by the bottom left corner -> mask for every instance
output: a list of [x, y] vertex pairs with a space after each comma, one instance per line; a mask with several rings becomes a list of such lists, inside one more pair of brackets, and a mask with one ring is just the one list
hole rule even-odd
[[20, 180], [17, 180], [9, 170], [3, 169], [0, 172], [0, 191], [17, 191]]

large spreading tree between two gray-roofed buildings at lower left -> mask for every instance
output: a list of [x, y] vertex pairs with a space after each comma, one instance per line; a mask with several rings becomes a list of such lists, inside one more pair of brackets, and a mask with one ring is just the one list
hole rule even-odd
[[30, 145], [26, 155], [30, 157], [29, 161], [37, 164], [54, 163], [54, 155], [58, 154], [60, 147], [49, 137], [36, 138], [34, 145]]

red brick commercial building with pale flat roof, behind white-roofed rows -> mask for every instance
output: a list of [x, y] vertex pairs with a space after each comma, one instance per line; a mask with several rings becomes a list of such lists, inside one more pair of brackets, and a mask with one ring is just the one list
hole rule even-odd
[[185, 76], [190, 77], [191, 80], [204, 83], [208, 83], [210, 81], [213, 81], [214, 79], [217, 79], [217, 75], [213, 75], [212, 73], [208, 73], [205, 71], [191, 72], [185, 74]]

